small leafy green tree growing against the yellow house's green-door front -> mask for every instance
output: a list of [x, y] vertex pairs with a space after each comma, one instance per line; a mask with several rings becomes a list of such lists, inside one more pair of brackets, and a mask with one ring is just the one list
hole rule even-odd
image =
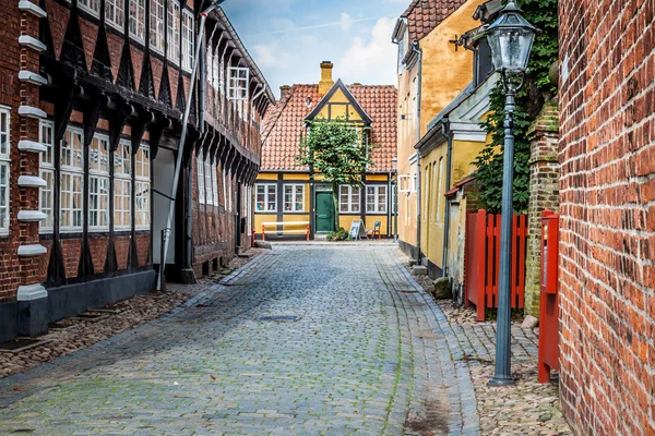
[[298, 164], [321, 173], [332, 184], [334, 229], [338, 230], [338, 186], [362, 187], [361, 174], [372, 166], [369, 128], [356, 129], [343, 119], [308, 121], [308, 135], [300, 142]]

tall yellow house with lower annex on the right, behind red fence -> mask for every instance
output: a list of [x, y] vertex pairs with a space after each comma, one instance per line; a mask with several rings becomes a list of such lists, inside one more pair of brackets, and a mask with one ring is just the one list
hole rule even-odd
[[398, 239], [401, 249], [428, 266], [432, 278], [448, 272], [449, 256], [460, 249], [463, 262], [464, 243], [457, 240], [463, 229], [456, 226], [465, 220], [466, 208], [452, 220], [446, 193], [473, 175], [472, 162], [488, 140], [479, 124], [497, 78], [479, 29], [500, 4], [415, 0], [393, 33], [401, 112]]

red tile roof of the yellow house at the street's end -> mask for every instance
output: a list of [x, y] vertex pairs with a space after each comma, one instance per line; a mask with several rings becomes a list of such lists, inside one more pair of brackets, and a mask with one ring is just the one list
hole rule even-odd
[[[373, 120], [371, 144], [372, 172], [392, 171], [396, 154], [397, 90], [395, 86], [347, 85], [361, 108]], [[308, 97], [311, 105], [308, 106]], [[263, 170], [303, 170], [296, 162], [305, 118], [321, 100], [319, 85], [294, 85], [266, 111], [263, 121]]]

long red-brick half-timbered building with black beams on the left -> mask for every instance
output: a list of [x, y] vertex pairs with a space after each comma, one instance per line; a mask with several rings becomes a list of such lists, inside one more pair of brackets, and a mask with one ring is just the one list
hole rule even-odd
[[191, 271], [248, 244], [246, 196], [260, 166], [259, 123], [274, 97], [219, 9], [207, 17], [192, 86], [201, 3], [5, 5], [0, 340], [154, 288], [178, 153], [167, 277], [192, 280]]

